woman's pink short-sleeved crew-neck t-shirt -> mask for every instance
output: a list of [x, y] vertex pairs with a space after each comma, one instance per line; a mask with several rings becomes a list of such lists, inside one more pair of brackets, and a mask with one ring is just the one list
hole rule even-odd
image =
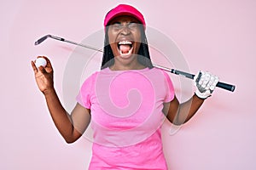
[[167, 169], [160, 127], [174, 89], [159, 69], [97, 71], [77, 97], [90, 109], [94, 143], [90, 169]]

